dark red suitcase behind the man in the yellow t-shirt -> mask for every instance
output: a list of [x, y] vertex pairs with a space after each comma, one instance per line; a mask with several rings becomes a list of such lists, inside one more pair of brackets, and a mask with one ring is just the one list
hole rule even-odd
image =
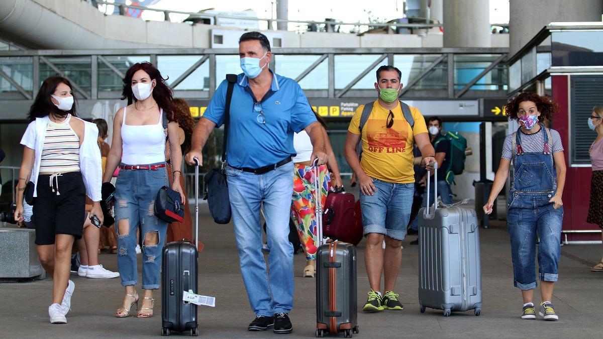
[[324, 236], [358, 245], [362, 240], [362, 224], [356, 222], [355, 203], [354, 195], [343, 188], [329, 192], [323, 212]]

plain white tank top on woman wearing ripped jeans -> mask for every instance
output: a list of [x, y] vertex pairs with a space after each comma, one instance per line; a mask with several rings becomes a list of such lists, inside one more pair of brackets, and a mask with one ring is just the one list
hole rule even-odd
[[159, 111], [159, 122], [154, 125], [121, 124], [121, 162], [126, 165], [148, 165], [165, 162], [165, 134], [163, 133], [163, 109]]

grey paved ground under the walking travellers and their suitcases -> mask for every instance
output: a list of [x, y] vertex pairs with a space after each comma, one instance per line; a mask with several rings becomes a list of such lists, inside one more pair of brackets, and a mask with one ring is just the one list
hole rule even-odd
[[[200, 294], [216, 297], [216, 308], [199, 308], [203, 337], [266, 337], [272, 332], [247, 332], [253, 314], [242, 284], [232, 226], [218, 226], [209, 218], [201, 221], [200, 238], [205, 244], [199, 257]], [[564, 246], [560, 281], [555, 285], [553, 303], [558, 322], [520, 320], [522, 300], [513, 287], [510, 246], [502, 222], [481, 230], [482, 288], [484, 306], [475, 317], [472, 311], [443, 317], [441, 311], [418, 311], [417, 246], [409, 236], [404, 242], [402, 270], [397, 284], [403, 311], [363, 314], [359, 311], [361, 333], [355, 337], [438, 337], [438, 338], [601, 338], [603, 273], [592, 273], [590, 265], [601, 258], [600, 245]], [[364, 258], [364, 242], [359, 244]], [[115, 255], [101, 255], [105, 267], [116, 270]], [[289, 337], [314, 337], [315, 281], [301, 277], [303, 255], [296, 255], [295, 308], [291, 312], [294, 332]], [[68, 324], [48, 323], [52, 280], [0, 285], [0, 336], [3, 338], [131, 338], [160, 335], [160, 294], [156, 293], [156, 316], [150, 319], [115, 318], [122, 300], [119, 279], [72, 278], [76, 290]], [[368, 279], [364, 262], [358, 261], [358, 305], [364, 305]], [[140, 290], [139, 290], [140, 291]]]

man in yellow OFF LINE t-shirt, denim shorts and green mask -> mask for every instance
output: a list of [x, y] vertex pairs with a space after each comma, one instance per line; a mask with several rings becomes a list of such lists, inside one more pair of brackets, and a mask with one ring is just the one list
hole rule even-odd
[[[364, 262], [371, 290], [363, 308], [365, 312], [403, 309], [398, 294], [394, 293], [394, 285], [402, 262], [400, 246], [406, 236], [414, 194], [413, 144], [417, 144], [426, 166], [435, 161], [434, 147], [421, 112], [410, 107], [414, 127], [404, 118], [398, 101], [401, 75], [394, 66], [377, 69], [374, 86], [378, 98], [370, 116], [364, 127], [359, 128], [364, 105], [359, 106], [347, 130], [345, 155], [360, 185], [362, 226], [367, 237]], [[356, 145], [361, 139], [362, 160], [359, 160]], [[382, 273], [385, 274], [383, 294]]]

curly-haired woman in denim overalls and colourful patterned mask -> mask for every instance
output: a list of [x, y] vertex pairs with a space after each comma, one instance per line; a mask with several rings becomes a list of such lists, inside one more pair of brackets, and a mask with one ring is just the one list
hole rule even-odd
[[490, 214], [504, 187], [513, 159], [514, 178], [508, 194], [507, 227], [511, 238], [514, 285], [522, 290], [522, 319], [535, 319], [534, 289], [537, 282], [534, 252], [538, 237], [538, 277], [540, 278], [540, 315], [558, 320], [551, 297], [557, 281], [561, 254], [563, 186], [566, 165], [559, 133], [545, 128], [558, 112], [556, 103], [535, 93], [521, 93], [505, 106], [509, 119], [521, 125], [505, 140], [500, 165], [494, 177], [484, 212]]

